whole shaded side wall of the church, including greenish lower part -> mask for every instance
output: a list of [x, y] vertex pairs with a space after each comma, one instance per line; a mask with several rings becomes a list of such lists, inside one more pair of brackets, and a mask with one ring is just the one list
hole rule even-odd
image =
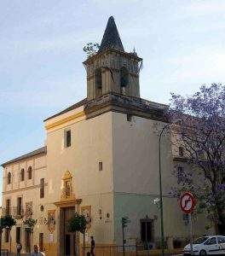
[[[153, 120], [133, 117], [129, 122], [125, 114], [113, 113], [114, 236], [118, 244], [121, 244], [121, 218], [124, 216], [131, 219], [127, 236], [141, 238], [140, 218], [146, 215], [157, 218], [154, 236], [160, 236], [159, 209], [153, 204], [153, 200], [159, 198], [160, 129]], [[172, 174], [176, 165], [171, 154], [170, 133], [165, 133], [161, 141], [164, 234], [174, 238], [188, 236], [178, 201], [169, 194], [170, 188], [176, 186], [176, 177]], [[205, 234], [206, 224], [204, 215], [199, 215], [193, 224], [194, 235]]]

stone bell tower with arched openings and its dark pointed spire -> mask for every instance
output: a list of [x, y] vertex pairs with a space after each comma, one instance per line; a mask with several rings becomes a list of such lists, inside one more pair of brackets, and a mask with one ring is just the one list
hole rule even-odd
[[84, 61], [88, 101], [107, 93], [140, 97], [139, 64], [136, 52], [127, 53], [111, 16], [97, 54]]

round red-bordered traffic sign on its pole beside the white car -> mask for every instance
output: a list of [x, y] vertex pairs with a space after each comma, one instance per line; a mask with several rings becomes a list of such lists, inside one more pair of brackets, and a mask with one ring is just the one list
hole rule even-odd
[[195, 207], [196, 201], [190, 192], [185, 192], [180, 199], [180, 206], [182, 212], [188, 214], [189, 224], [190, 224], [190, 246], [191, 246], [191, 255], [193, 255], [193, 228], [192, 228], [192, 212]]

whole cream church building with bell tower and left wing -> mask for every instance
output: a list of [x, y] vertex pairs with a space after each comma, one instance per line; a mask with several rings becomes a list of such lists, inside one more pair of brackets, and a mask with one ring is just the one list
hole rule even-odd
[[[10, 232], [13, 252], [20, 241], [23, 252], [38, 243], [47, 256], [78, 255], [83, 238], [67, 229], [75, 212], [86, 217], [85, 241], [94, 236], [95, 250], [122, 245], [123, 217], [130, 219], [126, 245], [159, 247], [157, 127], [167, 123], [167, 106], [140, 97], [141, 63], [136, 52], [124, 50], [110, 17], [98, 52], [84, 61], [86, 98], [43, 121], [43, 148], [3, 163], [2, 214], [17, 221]], [[167, 134], [161, 142], [167, 247], [189, 234], [187, 218], [170, 195], [174, 168], [188, 166], [170, 141]], [[32, 235], [27, 218], [37, 219]], [[203, 235], [205, 220], [196, 218], [194, 236]], [[9, 240], [5, 230], [3, 248]]]

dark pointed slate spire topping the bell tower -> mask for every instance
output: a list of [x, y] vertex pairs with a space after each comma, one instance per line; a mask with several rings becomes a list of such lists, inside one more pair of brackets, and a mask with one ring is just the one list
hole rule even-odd
[[113, 16], [108, 19], [107, 27], [101, 40], [101, 45], [98, 52], [105, 49], [118, 49], [120, 51], [124, 51], [124, 46], [119, 38], [118, 29]]

